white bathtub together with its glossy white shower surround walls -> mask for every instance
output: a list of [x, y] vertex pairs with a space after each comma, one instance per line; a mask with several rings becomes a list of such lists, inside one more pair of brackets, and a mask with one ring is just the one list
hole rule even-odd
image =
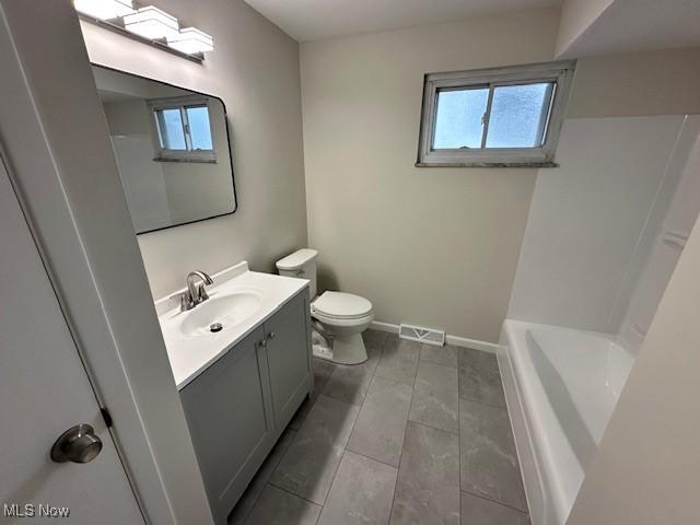
[[570, 119], [538, 174], [499, 353], [533, 523], [567, 522], [633, 372], [700, 208], [699, 130]]

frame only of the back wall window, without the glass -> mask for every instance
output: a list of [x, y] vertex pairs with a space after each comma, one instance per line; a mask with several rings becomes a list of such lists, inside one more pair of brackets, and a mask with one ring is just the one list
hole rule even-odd
[[[564, 119], [575, 60], [528, 63], [501, 68], [428, 73], [423, 79], [423, 103], [421, 109], [418, 143], [418, 167], [555, 167], [557, 142]], [[493, 92], [503, 85], [553, 82], [544, 141], [536, 148], [486, 148]], [[485, 113], [481, 148], [440, 149], [432, 148], [435, 135], [435, 116], [440, 91], [489, 89]]]

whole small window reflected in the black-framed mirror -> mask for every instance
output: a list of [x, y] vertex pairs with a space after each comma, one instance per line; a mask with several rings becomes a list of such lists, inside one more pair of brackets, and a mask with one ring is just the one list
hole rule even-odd
[[207, 98], [149, 101], [158, 147], [156, 161], [215, 162]]

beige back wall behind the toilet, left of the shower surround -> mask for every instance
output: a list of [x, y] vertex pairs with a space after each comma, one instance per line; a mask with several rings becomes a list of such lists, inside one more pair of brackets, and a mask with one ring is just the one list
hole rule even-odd
[[535, 10], [302, 44], [308, 236], [320, 284], [378, 320], [495, 341], [535, 170], [417, 168], [423, 74], [549, 60]]

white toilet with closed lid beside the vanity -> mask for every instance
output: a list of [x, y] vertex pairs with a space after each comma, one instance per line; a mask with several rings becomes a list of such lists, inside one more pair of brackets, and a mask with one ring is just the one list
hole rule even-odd
[[374, 319], [372, 303], [343, 292], [324, 292], [316, 296], [316, 256], [303, 248], [277, 261], [280, 276], [311, 281], [311, 316], [320, 332], [314, 335], [314, 355], [340, 364], [360, 364], [368, 360], [362, 332]]

